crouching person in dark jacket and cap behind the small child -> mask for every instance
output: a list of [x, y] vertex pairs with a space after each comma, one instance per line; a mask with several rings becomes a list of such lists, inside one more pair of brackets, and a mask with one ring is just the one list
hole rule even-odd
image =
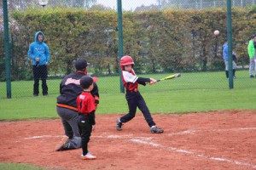
[[[81, 148], [81, 137], [79, 132], [79, 112], [76, 99], [83, 92], [80, 86], [80, 78], [87, 75], [87, 62], [85, 59], [79, 59], [75, 62], [76, 72], [63, 78], [60, 84], [60, 95], [57, 97], [56, 111], [61, 117], [66, 138], [57, 144], [55, 151], [73, 150]], [[94, 83], [91, 94], [95, 98], [95, 105], [99, 103], [99, 91]], [[67, 139], [68, 138], [68, 139]]]

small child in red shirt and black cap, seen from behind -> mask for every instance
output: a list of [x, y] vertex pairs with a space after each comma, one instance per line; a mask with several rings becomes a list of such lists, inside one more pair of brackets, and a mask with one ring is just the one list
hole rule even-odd
[[[92, 156], [88, 151], [88, 143], [90, 141], [90, 133], [95, 127], [95, 99], [90, 94], [93, 89], [93, 79], [84, 76], [80, 79], [81, 87], [84, 89], [82, 94], [77, 98], [77, 106], [79, 110], [79, 130], [82, 138], [82, 160], [93, 160], [96, 156]], [[95, 80], [96, 82], [96, 80]]]

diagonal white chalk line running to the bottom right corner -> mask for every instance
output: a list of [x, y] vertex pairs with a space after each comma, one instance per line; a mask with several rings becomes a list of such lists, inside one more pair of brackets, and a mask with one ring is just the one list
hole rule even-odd
[[176, 152], [187, 154], [187, 155], [190, 155], [190, 156], [203, 157], [203, 158], [207, 158], [207, 159], [210, 159], [210, 160], [213, 160], [213, 161], [226, 161], [226, 162], [230, 162], [230, 163], [240, 165], [240, 166], [256, 168], [256, 165], [253, 165], [253, 164], [250, 164], [250, 163], [245, 163], [245, 162], [241, 162], [241, 161], [234, 161], [234, 160], [230, 160], [230, 159], [226, 159], [226, 158], [219, 158], [219, 157], [206, 156], [206, 155], [202, 155], [202, 154], [196, 154], [196, 153], [191, 152], [189, 150], [181, 150], [181, 149], [178, 149], [178, 148], [175, 148], [175, 147], [169, 147], [169, 146], [166, 147], [166, 146], [163, 146], [163, 145], [160, 145], [160, 144], [155, 144], [155, 143], [152, 143], [152, 142], [144, 141], [142, 139], [131, 139], [131, 141], [135, 142], [135, 143], [139, 143], [139, 144], [152, 145], [154, 147], [158, 147], [158, 148], [161, 148], [161, 149], [164, 149], [164, 150], [176, 151]]

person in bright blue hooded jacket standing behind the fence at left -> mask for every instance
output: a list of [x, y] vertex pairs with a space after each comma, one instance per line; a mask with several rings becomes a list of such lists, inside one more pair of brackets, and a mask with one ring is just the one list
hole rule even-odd
[[28, 56], [32, 59], [32, 71], [34, 77], [33, 95], [39, 94], [39, 80], [42, 80], [43, 95], [48, 95], [46, 79], [48, 76], [49, 47], [44, 43], [44, 33], [38, 31], [35, 34], [35, 42], [29, 46]]

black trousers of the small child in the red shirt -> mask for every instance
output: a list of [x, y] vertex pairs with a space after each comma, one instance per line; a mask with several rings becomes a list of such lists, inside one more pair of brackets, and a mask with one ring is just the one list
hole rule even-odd
[[82, 138], [83, 155], [85, 156], [88, 153], [88, 143], [90, 141], [90, 133], [92, 130], [92, 126], [87, 115], [79, 114], [79, 130]]

